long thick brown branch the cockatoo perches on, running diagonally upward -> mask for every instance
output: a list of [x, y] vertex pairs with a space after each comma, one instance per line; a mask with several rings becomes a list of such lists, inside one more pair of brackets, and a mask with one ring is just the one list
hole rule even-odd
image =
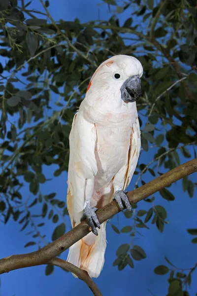
[[[175, 169], [135, 190], [130, 191], [127, 195], [131, 204], [136, 203], [154, 194], [160, 189], [178, 181], [179, 179], [195, 172], [197, 172], [197, 158], [176, 167]], [[118, 214], [120, 211], [121, 210], [116, 201], [112, 201], [97, 211], [99, 222], [103, 223], [107, 219], [110, 219], [114, 215]], [[60, 255], [89, 232], [90, 228], [87, 222], [83, 221], [65, 235], [38, 251], [22, 255], [13, 255], [0, 259], [0, 274], [28, 266], [48, 264], [52, 259]]]

